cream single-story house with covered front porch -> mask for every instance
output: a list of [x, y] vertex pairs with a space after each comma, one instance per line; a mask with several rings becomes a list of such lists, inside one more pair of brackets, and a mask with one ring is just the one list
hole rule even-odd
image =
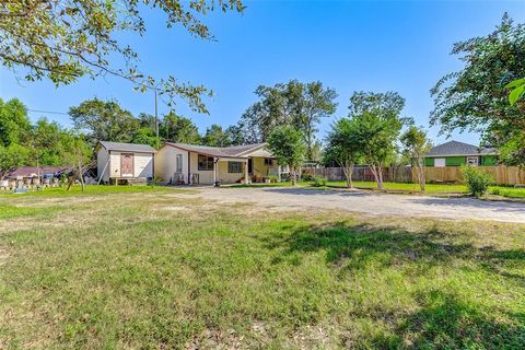
[[155, 154], [155, 175], [165, 184], [265, 182], [280, 174], [266, 143], [218, 148], [167, 142]]

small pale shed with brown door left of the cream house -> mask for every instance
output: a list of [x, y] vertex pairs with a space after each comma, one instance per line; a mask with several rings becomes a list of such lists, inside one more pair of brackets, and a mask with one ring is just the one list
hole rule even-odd
[[151, 145], [100, 141], [95, 152], [97, 176], [104, 183], [153, 178], [156, 151]]

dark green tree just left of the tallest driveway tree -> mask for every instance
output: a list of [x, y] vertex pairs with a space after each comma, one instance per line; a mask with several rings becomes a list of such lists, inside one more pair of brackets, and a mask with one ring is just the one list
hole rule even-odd
[[362, 156], [362, 142], [358, 138], [355, 124], [355, 119], [349, 118], [341, 118], [335, 122], [326, 139], [324, 152], [325, 163], [335, 162], [342, 167], [348, 188], [353, 187], [353, 167]]

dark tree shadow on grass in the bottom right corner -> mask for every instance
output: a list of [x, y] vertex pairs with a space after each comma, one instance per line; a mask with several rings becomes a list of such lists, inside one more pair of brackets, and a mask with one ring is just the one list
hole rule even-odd
[[456, 294], [433, 290], [417, 296], [419, 310], [401, 317], [390, 335], [372, 340], [384, 349], [524, 349], [524, 315], [502, 319]]

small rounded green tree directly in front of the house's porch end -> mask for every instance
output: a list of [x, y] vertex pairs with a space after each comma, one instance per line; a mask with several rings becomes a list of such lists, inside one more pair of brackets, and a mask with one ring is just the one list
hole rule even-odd
[[289, 166], [292, 184], [296, 186], [298, 171], [306, 153], [303, 135], [288, 125], [277, 127], [268, 138], [268, 149], [277, 158], [279, 165]]

